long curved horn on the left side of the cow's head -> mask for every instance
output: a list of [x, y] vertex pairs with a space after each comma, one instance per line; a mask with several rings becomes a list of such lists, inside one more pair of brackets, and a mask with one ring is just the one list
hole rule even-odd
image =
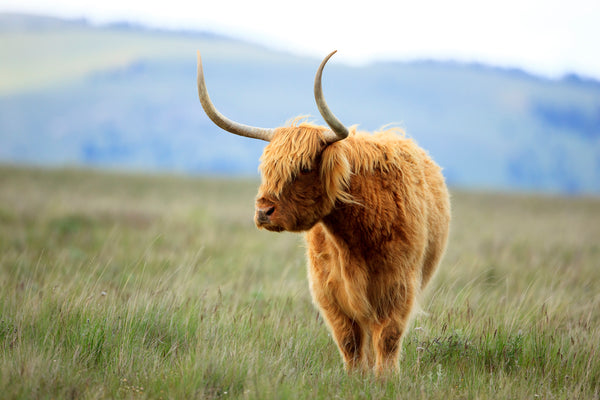
[[236, 135], [266, 140], [267, 142], [270, 142], [273, 138], [274, 129], [255, 128], [253, 126], [239, 124], [228, 119], [215, 108], [210, 101], [210, 97], [208, 97], [208, 91], [206, 90], [206, 84], [204, 83], [204, 70], [202, 69], [200, 52], [198, 52], [198, 96], [200, 97], [200, 103], [202, 103], [204, 112], [219, 128], [224, 129], [227, 132], [235, 133]]

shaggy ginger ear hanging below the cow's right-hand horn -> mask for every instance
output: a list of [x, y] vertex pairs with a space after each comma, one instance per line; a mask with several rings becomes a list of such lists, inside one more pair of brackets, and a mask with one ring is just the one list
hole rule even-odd
[[354, 202], [348, 193], [352, 169], [347, 157], [347, 146], [344, 140], [332, 143], [323, 150], [321, 156], [321, 180], [325, 195], [332, 205], [336, 200]]

